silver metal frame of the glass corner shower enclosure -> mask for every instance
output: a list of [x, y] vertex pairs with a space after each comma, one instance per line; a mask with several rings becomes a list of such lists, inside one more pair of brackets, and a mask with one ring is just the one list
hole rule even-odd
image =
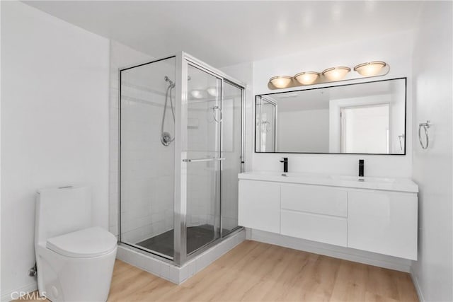
[[[132, 69], [135, 67], [152, 64], [155, 62], [162, 61], [164, 59], [170, 59], [174, 57], [176, 59], [176, 78], [175, 78], [175, 115], [177, 118], [175, 120], [175, 137], [180, 139], [174, 140], [174, 148], [175, 148], [175, 156], [174, 156], [174, 197], [173, 197], [173, 257], [166, 257], [165, 255], [161, 255], [158, 252], [154, 252], [151, 250], [139, 248], [137, 245], [131, 245], [130, 243], [123, 243], [121, 240], [121, 71], [125, 71], [127, 69]], [[117, 217], [118, 217], [118, 244], [122, 246], [127, 246], [128, 248], [132, 248], [133, 250], [144, 253], [147, 255], [153, 255], [154, 257], [158, 257], [165, 262], [170, 262], [176, 265], [184, 265], [185, 262], [200, 255], [200, 253], [204, 252], [208, 248], [213, 245], [219, 243], [219, 241], [224, 240], [224, 238], [228, 238], [229, 236], [233, 236], [235, 233], [240, 231], [243, 227], [236, 226], [236, 228], [232, 229], [226, 235], [222, 233], [222, 198], [220, 198], [219, 204], [219, 221], [220, 221], [220, 237], [213, 240], [207, 245], [200, 247], [199, 249], [195, 250], [194, 252], [187, 255], [187, 234], [186, 234], [186, 226], [187, 226], [187, 175], [183, 173], [183, 168], [186, 168], [187, 163], [183, 162], [183, 159], [186, 158], [186, 152], [183, 151], [183, 148], [187, 146], [187, 102], [188, 102], [188, 65], [192, 65], [195, 68], [199, 68], [202, 71], [206, 71], [213, 76], [221, 79], [222, 81], [222, 95], [220, 98], [221, 106], [223, 106], [224, 101], [224, 82], [228, 82], [232, 86], [236, 86], [240, 88], [242, 91], [241, 94], [241, 169], [240, 172], [242, 173], [245, 170], [245, 132], [246, 132], [246, 84], [238, 81], [231, 76], [224, 74], [222, 71], [215, 69], [214, 67], [206, 64], [205, 62], [196, 59], [195, 57], [187, 54], [186, 52], [178, 52], [176, 54], [171, 54], [165, 57], [161, 57], [158, 59], [153, 59], [151, 61], [143, 62], [142, 64], [132, 64], [130, 66], [124, 66], [118, 69], [118, 185], [117, 185], [117, 196], [118, 196], [118, 203], [117, 203]], [[185, 132], [183, 131], [185, 129]], [[223, 151], [223, 141], [222, 141], [222, 132], [223, 132], [223, 125], [220, 124], [220, 153], [222, 154]], [[222, 165], [222, 163], [220, 163]], [[186, 170], [186, 169], [185, 169]], [[220, 169], [220, 173], [222, 173], [222, 169]], [[221, 174], [222, 177], [222, 174]], [[222, 187], [220, 186], [220, 190]], [[220, 192], [219, 192], [220, 193]]]

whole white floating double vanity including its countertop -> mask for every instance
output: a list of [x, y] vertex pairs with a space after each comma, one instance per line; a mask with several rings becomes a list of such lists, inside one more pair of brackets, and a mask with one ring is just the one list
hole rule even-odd
[[417, 260], [418, 186], [409, 179], [239, 174], [239, 225]]

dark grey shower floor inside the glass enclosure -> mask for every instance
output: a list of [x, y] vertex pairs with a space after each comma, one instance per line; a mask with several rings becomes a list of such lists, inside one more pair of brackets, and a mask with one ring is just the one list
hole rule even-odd
[[[224, 229], [223, 233], [229, 230]], [[201, 226], [189, 226], [187, 228], [187, 253], [190, 254], [214, 239], [214, 226], [203, 224]], [[160, 235], [143, 240], [135, 245], [139, 245], [147, 250], [159, 252], [162, 255], [173, 256], [173, 229], [161, 233]]]

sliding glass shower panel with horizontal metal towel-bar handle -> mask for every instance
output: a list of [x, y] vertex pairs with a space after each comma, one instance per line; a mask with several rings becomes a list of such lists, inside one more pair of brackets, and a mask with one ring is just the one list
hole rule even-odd
[[187, 255], [220, 237], [222, 79], [188, 64]]

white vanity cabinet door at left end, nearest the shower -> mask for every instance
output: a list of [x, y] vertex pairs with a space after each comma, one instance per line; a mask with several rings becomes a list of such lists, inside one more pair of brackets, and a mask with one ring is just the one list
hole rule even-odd
[[239, 225], [280, 233], [280, 184], [239, 180]]

